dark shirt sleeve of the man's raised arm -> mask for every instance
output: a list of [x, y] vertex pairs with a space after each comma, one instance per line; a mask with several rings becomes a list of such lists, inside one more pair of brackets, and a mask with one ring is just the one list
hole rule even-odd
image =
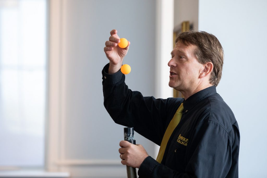
[[140, 92], [128, 89], [125, 75], [120, 71], [108, 74], [108, 67], [109, 64], [102, 70], [102, 84], [104, 106], [109, 115], [115, 123], [134, 127], [136, 132], [160, 145], [167, 123], [178, 105], [174, 102], [181, 103], [182, 99], [143, 97]]

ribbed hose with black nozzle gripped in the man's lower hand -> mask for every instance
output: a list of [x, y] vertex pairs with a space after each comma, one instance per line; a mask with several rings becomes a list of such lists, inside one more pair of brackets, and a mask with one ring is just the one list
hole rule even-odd
[[[135, 144], [133, 127], [124, 128], [124, 140], [132, 144]], [[127, 178], [137, 178], [136, 168], [126, 165], [126, 170], [127, 170]]]

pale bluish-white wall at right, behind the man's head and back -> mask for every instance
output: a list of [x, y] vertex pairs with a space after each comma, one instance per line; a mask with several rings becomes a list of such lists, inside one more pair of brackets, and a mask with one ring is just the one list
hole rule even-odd
[[239, 177], [267, 177], [266, 9], [265, 0], [199, 0], [198, 29], [214, 34], [225, 53], [217, 92], [238, 121]]

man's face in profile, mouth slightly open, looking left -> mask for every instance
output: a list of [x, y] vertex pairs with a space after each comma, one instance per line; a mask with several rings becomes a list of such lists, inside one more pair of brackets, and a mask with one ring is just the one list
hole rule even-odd
[[199, 85], [199, 74], [203, 65], [197, 61], [195, 50], [197, 46], [186, 46], [177, 42], [171, 52], [169, 86], [181, 92], [194, 90]]

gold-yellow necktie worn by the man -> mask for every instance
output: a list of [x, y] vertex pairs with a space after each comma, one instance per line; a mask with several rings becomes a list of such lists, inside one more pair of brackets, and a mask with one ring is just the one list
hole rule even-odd
[[163, 158], [163, 155], [164, 155], [164, 152], [166, 149], [166, 145], [170, 139], [172, 132], [174, 131], [176, 126], [179, 124], [179, 122], [182, 118], [182, 114], [183, 114], [183, 103], [177, 109], [176, 113], [174, 114], [171, 122], [169, 123], [169, 125], [168, 125], [168, 127], [164, 133], [164, 136], [163, 136], [163, 139], [161, 141], [160, 148], [159, 148], [159, 154], [158, 154], [157, 159], [156, 159], [159, 163], [161, 163], [161, 161], [162, 161], [162, 158]]

